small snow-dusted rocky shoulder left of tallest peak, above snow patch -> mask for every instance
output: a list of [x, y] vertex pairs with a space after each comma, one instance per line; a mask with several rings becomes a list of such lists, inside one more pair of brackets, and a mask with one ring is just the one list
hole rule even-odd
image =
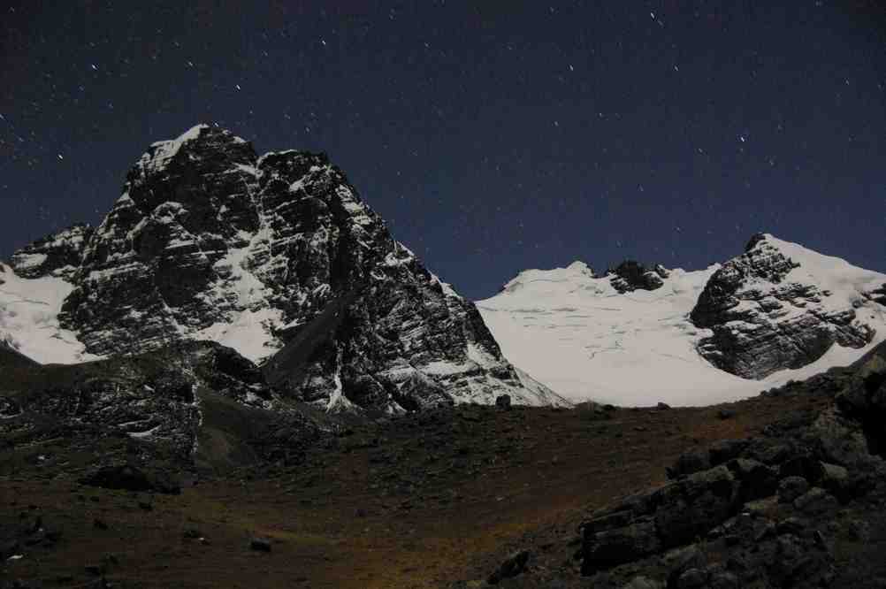
[[80, 267], [83, 249], [93, 232], [89, 225], [79, 224], [38, 239], [12, 255], [12, 269], [23, 278], [69, 278]]

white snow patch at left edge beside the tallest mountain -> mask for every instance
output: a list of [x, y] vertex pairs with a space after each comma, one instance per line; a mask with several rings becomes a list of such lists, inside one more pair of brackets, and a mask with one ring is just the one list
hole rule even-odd
[[0, 339], [42, 364], [96, 360], [71, 331], [58, 326], [58, 312], [74, 290], [64, 278], [21, 278], [0, 263]]

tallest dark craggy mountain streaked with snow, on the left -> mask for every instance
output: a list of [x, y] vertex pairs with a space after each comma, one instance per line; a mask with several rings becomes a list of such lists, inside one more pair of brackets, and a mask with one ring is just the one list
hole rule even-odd
[[324, 154], [259, 157], [217, 127], [153, 143], [97, 229], [28, 245], [0, 281], [0, 334], [40, 362], [206, 340], [330, 411], [568, 404], [501, 356]]

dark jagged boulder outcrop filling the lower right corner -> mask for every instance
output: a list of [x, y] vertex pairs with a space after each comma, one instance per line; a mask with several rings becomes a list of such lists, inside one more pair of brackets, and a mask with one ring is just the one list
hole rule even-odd
[[881, 345], [853, 368], [770, 391], [841, 392], [758, 438], [693, 451], [672, 483], [595, 512], [580, 526], [587, 585], [880, 586], [884, 358]]

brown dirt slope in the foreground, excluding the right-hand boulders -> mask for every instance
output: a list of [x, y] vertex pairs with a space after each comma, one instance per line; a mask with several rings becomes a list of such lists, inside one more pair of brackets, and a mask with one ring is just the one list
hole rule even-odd
[[[82, 486], [35, 466], [0, 478], [0, 526], [39, 516], [61, 534], [3, 562], [0, 578], [45, 587], [94, 586], [101, 574], [133, 588], [439, 587], [485, 578], [526, 542], [540, 546], [532, 566], [562, 567], [584, 513], [662, 483], [681, 452], [827, 403], [459, 407], [355, 426], [297, 467], [240, 469], [181, 495]], [[734, 415], [721, 419], [724, 408]], [[270, 552], [250, 549], [256, 536]]]

